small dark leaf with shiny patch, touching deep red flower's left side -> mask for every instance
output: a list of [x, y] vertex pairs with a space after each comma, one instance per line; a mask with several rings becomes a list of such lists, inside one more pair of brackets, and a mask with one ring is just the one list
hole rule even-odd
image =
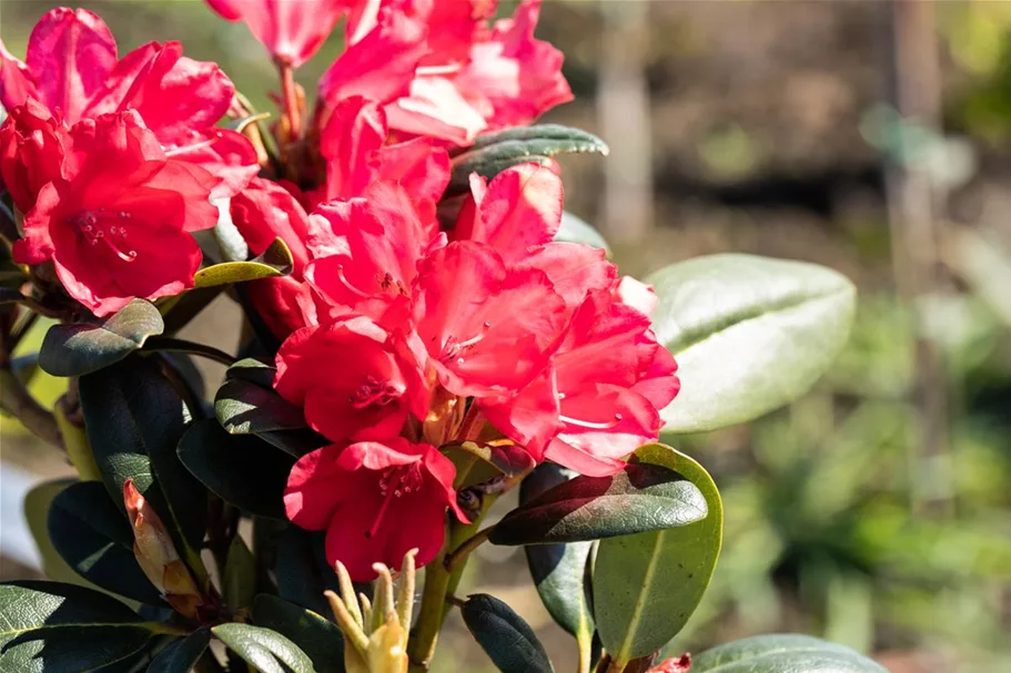
[[242, 379], [229, 379], [218, 389], [214, 412], [222, 427], [232, 435], [305, 427], [301, 408], [271, 388]]

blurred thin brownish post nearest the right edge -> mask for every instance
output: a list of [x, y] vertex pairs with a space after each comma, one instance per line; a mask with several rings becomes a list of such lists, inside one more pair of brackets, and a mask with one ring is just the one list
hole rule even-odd
[[[941, 69], [934, 4], [891, 0], [890, 95], [903, 122], [938, 131]], [[886, 191], [896, 289], [913, 318], [916, 440], [910, 453], [916, 513], [942, 513], [953, 504], [949, 436], [949, 381], [940, 345], [923, 330], [922, 299], [946, 292], [940, 262], [946, 194], [922, 165], [889, 162]]]

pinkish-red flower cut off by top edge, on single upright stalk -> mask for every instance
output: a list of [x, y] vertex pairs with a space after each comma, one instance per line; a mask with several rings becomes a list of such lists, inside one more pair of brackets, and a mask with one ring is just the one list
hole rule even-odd
[[229, 21], [243, 20], [274, 60], [299, 68], [330, 37], [355, 0], [208, 0]]

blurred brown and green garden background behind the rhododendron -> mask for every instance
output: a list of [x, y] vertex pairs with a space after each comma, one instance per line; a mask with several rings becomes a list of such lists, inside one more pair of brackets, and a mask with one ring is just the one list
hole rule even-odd
[[[0, 0], [11, 52], [53, 4]], [[266, 54], [202, 2], [81, 4], [121, 53], [179, 39], [270, 109]], [[674, 440], [720, 486], [726, 540], [671, 653], [789, 630], [893, 673], [1011, 670], [1011, 2], [545, 0], [538, 37], [566, 53], [576, 94], [546, 121], [611, 146], [563, 164], [567, 208], [624, 273], [734, 251], [825, 264], [860, 289], [815, 391]], [[335, 35], [300, 72], [309, 91], [340, 50]], [[189, 336], [231, 348], [237, 320], [221, 299]], [[21, 497], [70, 470], [9, 418], [0, 445], [0, 573], [33, 577]], [[516, 606], [575, 669], [523, 554], [478, 558], [464, 589]], [[436, 670], [491, 671], [451, 622]]]

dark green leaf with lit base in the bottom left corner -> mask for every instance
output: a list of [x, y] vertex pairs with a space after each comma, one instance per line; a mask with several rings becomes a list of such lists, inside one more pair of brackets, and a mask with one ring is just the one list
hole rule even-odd
[[74, 584], [0, 584], [0, 671], [84, 673], [140, 652], [155, 632], [115, 599]]

